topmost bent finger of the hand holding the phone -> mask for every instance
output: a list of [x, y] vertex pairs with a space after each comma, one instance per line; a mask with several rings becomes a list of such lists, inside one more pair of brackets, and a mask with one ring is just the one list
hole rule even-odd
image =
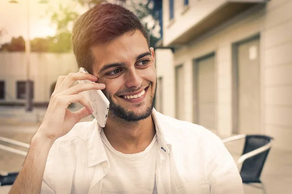
[[62, 83], [60, 84], [60, 89], [61, 90], [66, 90], [68, 89], [74, 81], [77, 80], [89, 80], [89, 81], [97, 81], [97, 77], [93, 76], [89, 73], [81, 73], [81, 72], [77, 72], [77, 73], [69, 73], [68, 76], [66, 76], [66, 78], [64, 79], [64, 81], [62, 81]]

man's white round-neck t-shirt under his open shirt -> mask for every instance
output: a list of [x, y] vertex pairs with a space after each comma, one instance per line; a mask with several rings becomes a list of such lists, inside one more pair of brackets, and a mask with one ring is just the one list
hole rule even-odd
[[101, 194], [157, 194], [155, 183], [158, 141], [155, 134], [146, 149], [136, 154], [115, 150], [101, 131], [110, 171], [102, 179]]

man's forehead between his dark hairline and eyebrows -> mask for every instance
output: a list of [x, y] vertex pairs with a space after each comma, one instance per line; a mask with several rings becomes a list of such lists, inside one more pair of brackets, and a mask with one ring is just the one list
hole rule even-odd
[[127, 32], [109, 43], [99, 44], [91, 48], [94, 57], [94, 71], [109, 63], [131, 62], [139, 54], [149, 51], [146, 38], [136, 30]]

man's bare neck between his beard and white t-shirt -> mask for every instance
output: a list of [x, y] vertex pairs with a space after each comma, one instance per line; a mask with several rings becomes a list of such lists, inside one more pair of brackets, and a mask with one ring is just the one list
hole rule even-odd
[[109, 118], [103, 130], [110, 145], [124, 154], [144, 151], [156, 133], [151, 115], [138, 122], [121, 122]]

